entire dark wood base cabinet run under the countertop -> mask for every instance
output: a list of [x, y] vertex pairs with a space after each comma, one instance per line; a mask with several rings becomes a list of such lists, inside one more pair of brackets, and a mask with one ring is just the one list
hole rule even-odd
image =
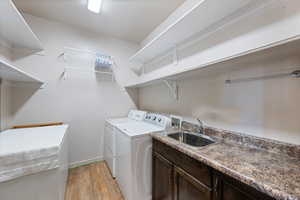
[[153, 200], [275, 200], [153, 140]]

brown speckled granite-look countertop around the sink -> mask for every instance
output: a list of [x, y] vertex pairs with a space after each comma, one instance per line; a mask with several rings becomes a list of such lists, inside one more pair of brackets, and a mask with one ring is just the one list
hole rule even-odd
[[[195, 148], [166, 134], [167, 131], [160, 132], [152, 137], [277, 200], [300, 200], [299, 157], [223, 139]], [[295, 146], [299, 147], [294, 145], [293, 149]]]

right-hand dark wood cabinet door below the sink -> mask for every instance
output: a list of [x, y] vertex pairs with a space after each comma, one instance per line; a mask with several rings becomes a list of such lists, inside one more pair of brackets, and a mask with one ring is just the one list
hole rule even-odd
[[189, 175], [184, 170], [175, 167], [175, 200], [211, 200], [212, 190]]

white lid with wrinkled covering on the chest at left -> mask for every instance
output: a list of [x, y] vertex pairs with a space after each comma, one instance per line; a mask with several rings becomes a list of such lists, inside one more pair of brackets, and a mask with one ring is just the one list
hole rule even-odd
[[0, 133], [0, 182], [58, 168], [68, 125]]

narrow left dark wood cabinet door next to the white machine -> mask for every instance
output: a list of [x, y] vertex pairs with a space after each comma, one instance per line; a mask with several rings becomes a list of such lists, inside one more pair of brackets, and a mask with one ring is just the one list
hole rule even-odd
[[152, 200], [174, 200], [173, 165], [159, 154], [152, 156]]

